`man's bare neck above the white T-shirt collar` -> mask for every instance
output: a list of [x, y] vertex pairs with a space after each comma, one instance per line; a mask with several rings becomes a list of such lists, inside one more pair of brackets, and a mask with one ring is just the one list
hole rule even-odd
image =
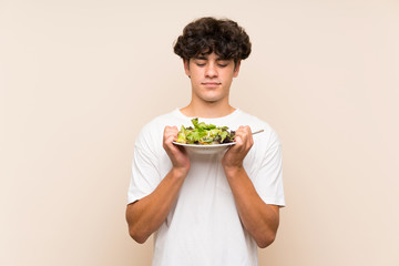
[[181, 112], [191, 117], [216, 119], [226, 116], [235, 111], [228, 102], [195, 102], [192, 101]]

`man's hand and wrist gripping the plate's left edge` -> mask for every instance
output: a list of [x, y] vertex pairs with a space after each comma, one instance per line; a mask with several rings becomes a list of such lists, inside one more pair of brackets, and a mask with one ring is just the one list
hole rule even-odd
[[177, 141], [177, 126], [165, 126], [163, 147], [171, 158], [173, 170], [185, 176], [190, 170], [190, 157], [184, 147], [173, 144], [174, 141]]

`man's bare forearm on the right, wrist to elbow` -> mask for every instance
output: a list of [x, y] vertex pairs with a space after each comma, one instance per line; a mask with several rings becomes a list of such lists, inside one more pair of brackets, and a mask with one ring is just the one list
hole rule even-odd
[[225, 168], [225, 174], [244, 227], [259, 247], [270, 245], [278, 228], [278, 206], [260, 198], [243, 167]]

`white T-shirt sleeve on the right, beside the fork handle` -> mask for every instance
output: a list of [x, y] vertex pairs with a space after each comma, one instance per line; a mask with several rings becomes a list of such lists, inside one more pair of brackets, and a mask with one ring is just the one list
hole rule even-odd
[[285, 206], [282, 143], [274, 131], [270, 133], [267, 149], [259, 162], [259, 171], [254, 183], [265, 203]]

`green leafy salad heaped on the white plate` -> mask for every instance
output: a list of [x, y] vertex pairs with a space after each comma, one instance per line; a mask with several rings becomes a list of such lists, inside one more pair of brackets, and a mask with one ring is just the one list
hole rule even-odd
[[212, 145], [232, 143], [235, 131], [228, 131], [227, 126], [217, 127], [213, 124], [198, 123], [198, 119], [192, 119], [193, 126], [182, 125], [177, 134], [177, 142], [183, 144]]

